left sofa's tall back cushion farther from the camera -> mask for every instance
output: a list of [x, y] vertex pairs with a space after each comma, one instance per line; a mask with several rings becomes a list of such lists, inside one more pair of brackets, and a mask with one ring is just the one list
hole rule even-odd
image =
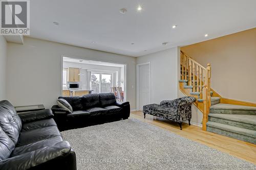
[[8, 101], [0, 101], [0, 127], [16, 144], [22, 130], [22, 120]]

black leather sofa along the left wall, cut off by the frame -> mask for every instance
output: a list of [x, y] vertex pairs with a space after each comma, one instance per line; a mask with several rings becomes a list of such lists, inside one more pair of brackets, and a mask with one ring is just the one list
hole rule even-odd
[[0, 101], [0, 169], [76, 169], [76, 155], [63, 141], [49, 109], [17, 114]]

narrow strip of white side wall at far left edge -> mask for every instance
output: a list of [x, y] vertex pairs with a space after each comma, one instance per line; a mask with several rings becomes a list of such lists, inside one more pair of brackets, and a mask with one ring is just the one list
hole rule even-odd
[[7, 42], [0, 36], [0, 100], [6, 100]]

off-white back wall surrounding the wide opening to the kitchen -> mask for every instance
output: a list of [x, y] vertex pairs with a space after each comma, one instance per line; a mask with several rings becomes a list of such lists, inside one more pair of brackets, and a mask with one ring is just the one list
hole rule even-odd
[[127, 101], [136, 107], [136, 58], [25, 37], [8, 43], [7, 98], [17, 105], [50, 108], [61, 94], [61, 55], [127, 64]]

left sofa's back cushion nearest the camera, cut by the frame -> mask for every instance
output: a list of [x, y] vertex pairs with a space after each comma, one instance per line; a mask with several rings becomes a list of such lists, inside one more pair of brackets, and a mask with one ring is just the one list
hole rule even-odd
[[0, 127], [0, 161], [9, 158], [14, 148], [15, 145], [13, 141]]

